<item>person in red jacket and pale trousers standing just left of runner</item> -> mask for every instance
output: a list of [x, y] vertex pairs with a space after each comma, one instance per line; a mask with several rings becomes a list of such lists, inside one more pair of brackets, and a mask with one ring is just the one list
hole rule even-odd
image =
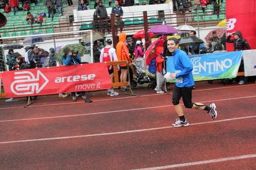
[[155, 91], [157, 91], [157, 93], [164, 93], [164, 91], [162, 91], [161, 89], [164, 83], [164, 74], [162, 72], [163, 62], [164, 62], [164, 58], [160, 55], [157, 56], [157, 58], [155, 59], [155, 67], [157, 68], [157, 73], [156, 73], [157, 87], [155, 88]]

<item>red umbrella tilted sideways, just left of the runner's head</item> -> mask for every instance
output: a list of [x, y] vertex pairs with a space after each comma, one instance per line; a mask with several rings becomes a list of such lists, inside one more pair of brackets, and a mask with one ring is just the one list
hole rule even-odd
[[148, 66], [150, 61], [156, 58], [164, 50], [164, 40], [155, 40], [155, 42], [149, 45], [146, 50], [146, 65]]

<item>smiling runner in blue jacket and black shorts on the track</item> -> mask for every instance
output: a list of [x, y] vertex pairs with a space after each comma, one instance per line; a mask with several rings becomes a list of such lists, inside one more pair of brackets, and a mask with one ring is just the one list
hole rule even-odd
[[173, 127], [186, 127], [189, 125], [189, 121], [185, 119], [183, 108], [180, 104], [180, 98], [182, 98], [186, 108], [205, 110], [210, 114], [213, 120], [216, 119], [217, 111], [215, 104], [210, 104], [210, 106], [208, 106], [192, 102], [192, 89], [194, 89], [194, 79], [192, 75], [193, 66], [187, 54], [178, 49], [178, 46], [179, 43], [176, 38], [169, 38], [167, 40], [167, 48], [169, 52], [173, 54], [173, 63], [175, 66], [175, 73], [171, 73], [171, 77], [176, 79], [171, 101], [173, 102], [175, 111], [180, 117], [173, 123]]

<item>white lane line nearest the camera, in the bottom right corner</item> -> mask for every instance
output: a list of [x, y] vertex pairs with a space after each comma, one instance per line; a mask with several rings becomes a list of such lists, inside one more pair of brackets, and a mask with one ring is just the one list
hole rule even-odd
[[148, 168], [142, 168], [142, 169], [134, 169], [134, 170], [157, 170], [157, 169], [170, 169], [170, 168], [177, 168], [177, 167], [186, 167], [186, 166], [198, 166], [203, 164], [212, 164], [217, 162], [225, 162], [230, 160], [239, 160], [244, 158], [255, 158], [256, 154], [250, 154], [250, 155], [241, 155], [236, 157], [227, 157], [227, 158], [216, 158], [211, 160], [203, 160], [198, 162], [189, 162], [184, 164], [174, 164], [169, 166], [158, 166], [158, 167], [148, 167]]

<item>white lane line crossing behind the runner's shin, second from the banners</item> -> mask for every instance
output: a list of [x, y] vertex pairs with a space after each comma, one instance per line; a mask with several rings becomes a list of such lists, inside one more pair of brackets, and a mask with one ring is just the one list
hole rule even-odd
[[[220, 102], [225, 100], [237, 100], [241, 98], [253, 98], [256, 96], [250, 96], [250, 97], [236, 97], [236, 98], [226, 98], [226, 99], [219, 99], [219, 100], [209, 100], [209, 101], [202, 101], [199, 103], [208, 103], [208, 102]], [[183, 105], [183, 104], [182, 104]], [[162, 106], [155, 106], [155, 107], [142, 107], [137, 109], [124, 109], [124, 110], [118, 110], [118, 111], [107, 111], [107, 112], [92, 112], [92, 113], [85, 113], [85, 114], [71, 114], [71, 115], [65, 115], [65, 116], [51, 116], [51, 117], [42, 117], [42, 118], [30, 118], [30, 119], [19, 119], [19, 120], [1, 120], [2, 122], [8, 122], [8, 121], [27, 121], [27, 120], [44, 120], [44, 119], [54, 119], [54, 118], [70, 118], [74, 116], [89, 116], [94, 114], [105, 114], [105, 113], [111, 113], [111, 112], [126, 112], [126, 111], [138, 111], [138, 110], [144, 110], [144, 109], [156, 109], [161, 107], [171, 107], [173, 105], [162, 105]]]

